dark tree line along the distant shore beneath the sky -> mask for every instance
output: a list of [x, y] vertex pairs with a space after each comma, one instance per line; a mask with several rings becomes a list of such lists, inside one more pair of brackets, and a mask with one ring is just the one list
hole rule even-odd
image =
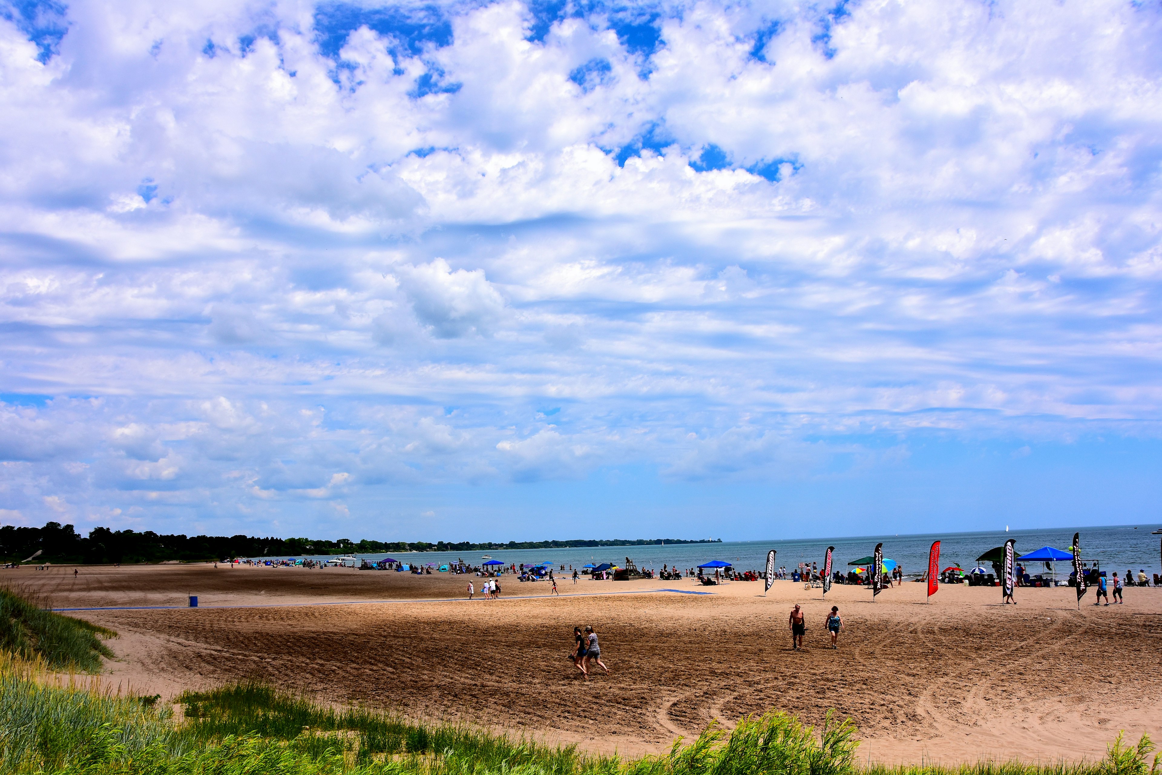
[[548, 540], [548, 541], [353, 541], [347, 538], [258, 538], [253, 536], [159, 534], [152, 530], [109, 530], [94, 528], [81, 536], [72, 525], [58, 522], [43, 528], [0, 528], [0, 558], [21, 562], [36, 552], [37, 562], [201, 562], [235, 557], [297, 557], [303, 554], [371, 554], [380, 552], [475, 552], [503, 548], [571, 548], [582, 546], [650, 546], [660, 544], [708, 544], [722, 539], [683, 540], [679, 538]]

